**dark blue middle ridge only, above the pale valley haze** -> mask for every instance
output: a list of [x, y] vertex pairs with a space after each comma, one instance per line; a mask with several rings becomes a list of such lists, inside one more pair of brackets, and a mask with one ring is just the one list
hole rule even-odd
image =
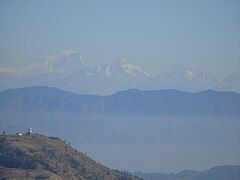
[[0, 112], [239, 118], [240, 94], [213, 90], [187, 93], [130, 89], [110, 96], [96, 96], [37, 86], [1, 92]]

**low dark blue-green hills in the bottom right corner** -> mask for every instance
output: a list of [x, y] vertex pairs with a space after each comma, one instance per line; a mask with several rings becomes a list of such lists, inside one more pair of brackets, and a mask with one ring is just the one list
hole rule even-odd
[[239, 180], [240, 166], [217, 166], [206, 171], [185, 170], [177, 174], [135, 173], [145, 180]]

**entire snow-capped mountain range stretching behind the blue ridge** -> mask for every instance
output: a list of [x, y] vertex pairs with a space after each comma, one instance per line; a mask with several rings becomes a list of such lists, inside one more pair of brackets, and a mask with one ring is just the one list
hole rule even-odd
[[79, 94], [99, 95], [131, 88], [240, 92], [240, 75], [219, 79], [210, 72], [176, 64], [169, 72], [153, 77], [123, 59], [99, 66], [89, 65], [74, 50], [44, 56], [20, 68], [0, 67], [0, 82], [0, 90], [44, 85]]

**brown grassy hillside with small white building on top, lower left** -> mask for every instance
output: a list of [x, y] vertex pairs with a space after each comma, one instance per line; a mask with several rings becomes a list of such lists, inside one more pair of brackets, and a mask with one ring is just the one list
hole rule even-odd
[[59, 138], [0, 136], [1, 178], [137, 179], [115, 172]]

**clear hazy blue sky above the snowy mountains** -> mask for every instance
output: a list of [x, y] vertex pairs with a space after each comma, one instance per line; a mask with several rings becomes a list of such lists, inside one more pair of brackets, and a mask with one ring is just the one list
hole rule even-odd
[[240, 74], [239, 0], [0, 1], [0, 65], [77, 49], [157, 75], [175, 63]]

